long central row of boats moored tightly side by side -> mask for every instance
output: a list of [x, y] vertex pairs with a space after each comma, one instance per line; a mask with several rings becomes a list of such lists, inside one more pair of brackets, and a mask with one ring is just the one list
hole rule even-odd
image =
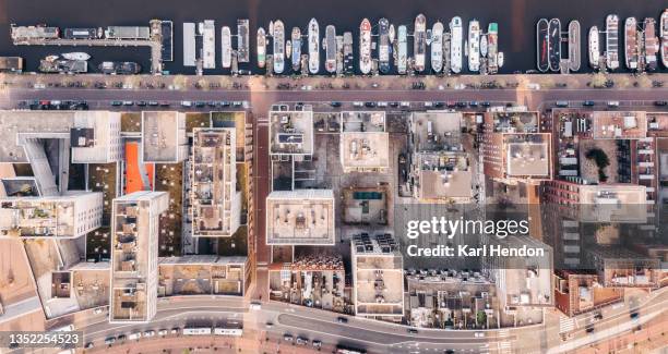
[[[396, 64], [398, 74], [409, 71], [425, 72], [427, 68], [427, 51], [430, 47], [430, 64], [434, 73], [460, 73], [463, 69], [463, 58], [468, 57], [468, 70], [484, 74], [494, 74], [503, 64], [503, 53], [498, 50], [499, 26], [490, 23], [487, 33], [482, 33], [480, 23], [472, 20], [468, 24], [468, 38], [464, 40], [462, 19], [455, 16], [450, 22], [450, 30], [440, 21], [431, 28], [427, 27], [424, 14], [417, 15], [413, 32], [413, 57], [408, 54], [408, 28], [399, 25], [396, 29], [387, 19], [378, 22], [377, 34], [368, 19], [359, 26], [359, 72], [370, 74], [374, 71], [387, 74], [392, 71], [392, 61]], [[272, 56], [267, 54], [269, 38], [272, 40]], [[374, 41], [374, 37], [378, 40]], [[306, 41], [307, 52], [302, 52]], [[224, 44], [224, 51], [225, 51]], [[325, 27], [324, 38], [320, 37], [320, 25], [315, 19], [308, 24], [308, 33], [302, 36], [299, 27], [293, 27], [289, 39], [286, 40], [285, 25], [281, 20], [270, 23], [269, 33], [263, 27], [258, 28], [258, 65], [265, 68], [272, 62], [271, 69], [276, 74], [286, 70], [289, 61], [294, 72], [318, 74], [321, 66], [321, 51], [324, 50], [324, 68], [327, 73], [351, 74], [355, 71], [353, 33], [336, 34], [333, 25]], [[378, 51], [374, 59], [373, 51]]]

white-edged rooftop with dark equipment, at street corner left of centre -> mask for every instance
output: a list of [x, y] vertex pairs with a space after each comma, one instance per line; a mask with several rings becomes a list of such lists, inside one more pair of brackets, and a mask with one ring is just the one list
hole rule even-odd
[[312, 111], [270, 112], [271, 155], [313, 154]]

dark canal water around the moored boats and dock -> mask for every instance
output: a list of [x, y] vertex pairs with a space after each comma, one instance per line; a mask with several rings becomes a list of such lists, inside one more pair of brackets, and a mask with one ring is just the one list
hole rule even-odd
[[[598, 25], [605, 27], [605, 16], [617, 13], [620, 25], [628, 16], [636, 16], [639, 22], [647, 16], [658, 21], [664, 8], [668, 7], [666, 0], [469, 0], [469, 1], [438, 1], [438, 0], [338, 0], [338, 1], [305, 1], [305, 0], [274, 0], [274, 1], [234, 1], [234, 0], [0, 0], [0, 56], [20, 56], [26, 59], [28, 71], [35, 71], [39, 59], [50, 53], [72, 51], [72, 48], [55, 47], [15, 47], [11, 44], [9, 27], [11, 23], [29, 25], [46, 23], [63, 27], [98, 27], [107, 25], [147, 25], [151, 19], [172, 20], [175, 23], [175, 61], [166, 64], [172, 73], [194, 73], [193, 68], [182, 66], [182, 23], [202, 20], [216, 22], [216, 65], [220, 63], [219, 28], [230, 26], [236, 33], [237, 19], [250, 19], [251, 63], [240, 69], [255, 71], [255, 33], [259, 26], [267, 29], [271, 20], [281, 19], [285, 23], [286, 37], [293, 26], [302, 28], [306, 33], [310, 17], [318, 19], [321, 36], [327, 24], [336, 26], [337, 34], [344, 30], [353, 32], [355, 50], [358, 49], [359, 23], [362, 17], [369, 17], [377, 24], [380, 17], [387, 17], [392, 24], [408, 25], [418, 13], [427, 16], [428, 28], [440, 20], [445, 26], [455, 16], [462, 16], [464, 27], [472, 19], [477, 19], [484, 28], [489, 22], [499, 23], [499, 50], [504, 52], [505, 64], [502, 73], [512, 73], [517, 70], [529, 70], [536, 66], [536, 35], [535, 24], [540, 17], [560, 17], [562, 30], [568, 30], [568, 22], [578, 20], [582, 26], [582, 66], [587, 71], [586, 38], [588, 28]], [[374, 28], [375, 29], [375, 28]], [[658, 28], [657, 28], [658, 30]], [[621, 39], [621, 38], [620, 38]], [[236, 40], [234, 40], [236, 45]], [[408, 42], [413, 48], [411, 39]], [[620, 40], [620, 49], [623, 45]], [[148, 68], [148, 49], [138, 48], [84, 48], [93, 56], [91, 66], [96, 68], [100, 61], [123, 60], [136, 61], [143, 68]], [[271, 49], [267, 48], [271, 52]], [[302, 51], [306, 47], [302, 48]], [[564, 47], [565, 50], [565, 47]], [[429, 52], [429, 51], [428, 51]], [[620, 54], [621, 56], [621, 54]], [[375, 57], [375, 53], [374, 53]], [[465, 59], [466, 60], [466, 59]], [[428, 59], [429, 61], [429, 59]], [[324, 63], [324, 52], [321, 53], [321, 64]], [[246, 66], [244, 66], [246, 65]], [[357, 66], [357, 63], [356, 63]], [[466, 66], [466, 65], [464, 65]], [[286, 62], [286, 72], [289, 68]], [[324, 70], [321, 69], [324, 73]], [[223, 70], [205, 71], [205, 73], [224, 73]]]

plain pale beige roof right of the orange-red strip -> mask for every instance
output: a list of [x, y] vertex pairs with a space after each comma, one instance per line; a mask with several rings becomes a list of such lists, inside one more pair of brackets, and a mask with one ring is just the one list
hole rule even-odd
[[142, 112], [144, 162], [179, 162], [186, 158], [186, 118], [176, 111]]

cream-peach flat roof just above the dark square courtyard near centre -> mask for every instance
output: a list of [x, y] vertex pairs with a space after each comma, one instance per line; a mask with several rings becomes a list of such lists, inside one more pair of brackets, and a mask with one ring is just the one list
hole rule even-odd
[[390, 167], [390, 134], [345, 132], [341, 134], [344, 169], [385, 169]]

